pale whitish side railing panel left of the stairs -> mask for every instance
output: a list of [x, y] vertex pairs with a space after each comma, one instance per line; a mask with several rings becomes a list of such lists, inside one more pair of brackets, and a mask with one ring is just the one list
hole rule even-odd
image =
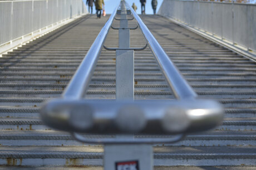
[[83, 13], [82, 0], [0, 1], [0, 46]]

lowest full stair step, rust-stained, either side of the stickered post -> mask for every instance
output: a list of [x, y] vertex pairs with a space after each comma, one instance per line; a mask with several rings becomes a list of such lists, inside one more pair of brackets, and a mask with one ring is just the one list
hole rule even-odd
[[[225, 152], [224, 152], [225, 148]], [[234, 149], [235, 148], [235, 149]], [[255, 147], [154, 147], [155, 166], [255, 165]], [[33, 166], [97, 165], [103, 163], [102, 147], [1, 147], [2, 164]], [[211, 154], [209, 154], [209, 152]], [[11, 158], [11, 160], [9, 160]], [[50, 161], [52, 160], [52, 161]], [[53, 161], [54, 160], [54, 161]], [[206, 161], [207, 160], [207, 161]], [[5, 162], [5, 163], [4, 163]], [[203, 163], [204, 162], [204, 163]]]

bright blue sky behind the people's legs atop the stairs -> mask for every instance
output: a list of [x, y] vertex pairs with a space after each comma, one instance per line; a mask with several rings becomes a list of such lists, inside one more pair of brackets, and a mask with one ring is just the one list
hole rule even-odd
[[[116, 8], [116, 6], [119, 5], [120, 0], [104, 0], [105, 2], [105, 10], [107, 14], [111, 14], [114, 9]], [[141, 13], [141, 4], [140, 4], [140, 0], [126, 0], [126, 2], [130, 5], [130, 7], [132, 6], [132, 3], [135, 3], [137, 6], [137, 13], [140, 14]], [[157, 8], [156, 8], [156, 12], [158, 11], [158, 9], [160, 8], [163, 0], [157, 0], [158, 4], [157, 4]], [[153, 14], [153, 9], [151, 6], [151, 0], [146, 0], [146, 14]], [[93, 13], [95, 13], [95, 7], [93, 7]]]

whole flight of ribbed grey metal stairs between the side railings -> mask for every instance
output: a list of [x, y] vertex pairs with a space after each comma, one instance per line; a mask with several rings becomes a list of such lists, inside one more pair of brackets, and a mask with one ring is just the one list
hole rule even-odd
[[[43, 101], [61, 96], [108, 17], [87, 15], [0, 58], [1, 165], [102, 168], [102, 146], [86, 145], [68, 133], [51, 130], [38, 112]], [[141, 18], [199, 97], [218, 100], [225, 107], [223, 125], [172, 145], [155, 145], [155, 168], [254, 168], [255, 62], [163, 17]], [[113, 25], [118, 27], [119, 22]], [[110, 30], [105, 45], [118, 46], [117, 30]], [[144, 45], [140, 30], [131, 30], [131, 47]], [[174, 98], [150, 49], [135, 51], [135, 99]], [[115, 99], [115, 51], [102, 49], [86, 99]]]

